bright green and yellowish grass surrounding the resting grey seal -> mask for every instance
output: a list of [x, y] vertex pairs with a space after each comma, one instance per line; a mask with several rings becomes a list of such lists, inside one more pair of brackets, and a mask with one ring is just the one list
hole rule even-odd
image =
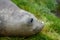
[[0, 37], [0, 40], [60, 40], [60, 18], [51, 13], [55, 0], [12, 0], [18, 7], [33, 13], [45, 22], [43, 30], [31, 37]]

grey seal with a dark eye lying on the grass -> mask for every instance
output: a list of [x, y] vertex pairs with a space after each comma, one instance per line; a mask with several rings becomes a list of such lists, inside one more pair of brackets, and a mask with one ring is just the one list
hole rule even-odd
[[0, 0], [0, 35], [30, 36], [42, 30], [44, 23], [10, 0]]

